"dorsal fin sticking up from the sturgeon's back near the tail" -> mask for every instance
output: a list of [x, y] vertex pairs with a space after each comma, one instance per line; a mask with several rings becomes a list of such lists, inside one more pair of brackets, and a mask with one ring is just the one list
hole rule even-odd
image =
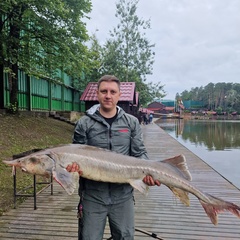
[[188, 170], [187, 161], [184, 155], [181, 154], [172, 158], [165, 159], [161, 162], [172, 165], [182, 173], [185, 179], [187, 179], [188, 181], [192, 180], [192, 176]]

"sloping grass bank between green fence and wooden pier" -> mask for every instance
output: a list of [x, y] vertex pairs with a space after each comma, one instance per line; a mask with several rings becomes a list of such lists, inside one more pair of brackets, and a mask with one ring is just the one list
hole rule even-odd
[[[73, 125], [52, 118], [0, 114], [0, 216], [13, 207], [12, 169], [2, 160], [32, 149], [71, 143], [73, 130]], [[18, 191], [32, 183], [31, 175], [17, 170]]]

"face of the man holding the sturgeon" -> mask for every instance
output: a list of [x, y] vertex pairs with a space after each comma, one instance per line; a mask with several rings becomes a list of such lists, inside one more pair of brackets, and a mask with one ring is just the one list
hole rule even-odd
[[120, 90], [116, 82], [101, 82], [97, 90], [98, 101], [102, 110], [111, 111], [116, 108], [120, 98]]

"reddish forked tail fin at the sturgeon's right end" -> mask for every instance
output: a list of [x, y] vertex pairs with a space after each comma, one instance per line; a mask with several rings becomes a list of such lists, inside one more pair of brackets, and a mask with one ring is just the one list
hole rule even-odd
[[240, 207], [234, 203], [224, 201], [223, 199], [205, 194], [209, 198], [209, 202], [199, 200], [208, 217], [214, 225], [218, 223], [218, 213], [229, 211], [240, 218]]

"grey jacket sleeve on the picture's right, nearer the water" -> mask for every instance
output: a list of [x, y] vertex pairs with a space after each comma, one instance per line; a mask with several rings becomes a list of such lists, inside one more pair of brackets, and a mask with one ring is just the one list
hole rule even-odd
[[141, 126], [137, 119], [134, 119], [132, 123], [131, 132], [131, 156], [148, 159], [147, 150], [143, 141], [143, 134]]

